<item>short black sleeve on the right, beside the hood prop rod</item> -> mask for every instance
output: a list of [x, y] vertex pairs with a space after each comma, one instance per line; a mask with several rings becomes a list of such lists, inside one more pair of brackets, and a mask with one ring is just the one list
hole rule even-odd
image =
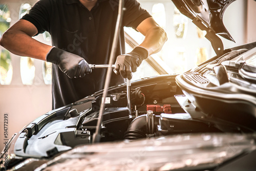
[[126, 0], [124, 7], [123, 26], [136, 29], [144, 19], [151, 17], [136, 0]]

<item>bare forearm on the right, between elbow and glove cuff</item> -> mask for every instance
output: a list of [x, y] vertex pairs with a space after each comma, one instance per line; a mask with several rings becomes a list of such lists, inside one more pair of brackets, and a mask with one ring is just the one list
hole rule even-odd
[[162, 49], [166, 40], [165, 31], [159, 26], [153, 27], [147, 31], [144, 41], [139, 46], [146, 48], [148, 54], [152, 55]]

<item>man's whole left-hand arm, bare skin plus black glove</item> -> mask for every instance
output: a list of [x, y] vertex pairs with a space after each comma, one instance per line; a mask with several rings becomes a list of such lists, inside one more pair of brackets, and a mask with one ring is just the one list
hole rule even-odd
[[20, 19], [3, 34], [0, 45], [19, 56], [52, 62], [70, 78], [84, 77], [89, 72], [89, 65], [82, 57], [42, 44], [32, 38], [37, 32], [32, 23]]

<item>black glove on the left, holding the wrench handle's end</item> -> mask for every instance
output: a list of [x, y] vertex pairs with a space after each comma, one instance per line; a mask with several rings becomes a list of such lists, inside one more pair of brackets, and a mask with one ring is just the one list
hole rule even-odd
[[56, 64], [69, 78], [84, 77], [90, 72], [87, 61], [82, 57], [55, 47], [47, 54], [46, 60]]

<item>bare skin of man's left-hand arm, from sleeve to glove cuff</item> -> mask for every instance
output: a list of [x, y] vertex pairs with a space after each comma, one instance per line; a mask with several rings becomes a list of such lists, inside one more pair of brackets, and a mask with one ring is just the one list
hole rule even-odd
[[0, 45], [19, 56], [46, 60], [52, 47], [32, 38], [35, 34], [36, 27], [27, 20], [20, 19], [3, 34]]

